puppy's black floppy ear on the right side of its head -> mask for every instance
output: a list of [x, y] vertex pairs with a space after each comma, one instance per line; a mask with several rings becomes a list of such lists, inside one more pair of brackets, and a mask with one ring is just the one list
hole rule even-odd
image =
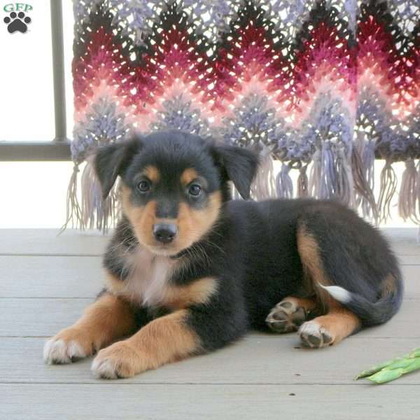
[[241, 197], [248, 200], [249, 189], [258, 169], [258, 155], [238, 146], [217, 145], [214, 151], [218, 165], [235, 184]]

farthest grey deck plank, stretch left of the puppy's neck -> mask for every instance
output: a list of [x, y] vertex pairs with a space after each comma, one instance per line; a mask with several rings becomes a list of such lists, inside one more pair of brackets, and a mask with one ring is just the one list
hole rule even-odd
[[102, 255], [109, 236], [67, 229], [1, 229], [0, 255]]

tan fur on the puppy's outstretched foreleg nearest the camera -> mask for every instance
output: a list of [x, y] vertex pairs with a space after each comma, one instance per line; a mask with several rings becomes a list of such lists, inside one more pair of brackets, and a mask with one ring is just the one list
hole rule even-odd
[[106, 363], [115, 377], [132, 377], [200, 351], [200, 339], [186, 324], [187, 316], [188, 311], [181, 310], [155, 319], [132, 337], [99, 351], [94, 366], [100, 372]]

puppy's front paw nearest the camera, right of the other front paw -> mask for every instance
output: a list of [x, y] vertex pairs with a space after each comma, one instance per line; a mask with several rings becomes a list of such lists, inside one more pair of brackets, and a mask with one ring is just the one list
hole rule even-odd
[[92, 363], [94, 376], [102, 379], [129, 378], [143, 370], [144, 360], [125, 342], [102, 349]]

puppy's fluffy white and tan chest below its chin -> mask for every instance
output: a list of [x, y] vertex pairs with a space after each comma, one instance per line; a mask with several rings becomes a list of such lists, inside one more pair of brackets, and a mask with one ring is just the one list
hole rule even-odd
[[176, 260], [141, 249], [127, 258], [125, 269], [129, 275], [124, 281], [113, 281], [111, 290], [142, 306], [165, 305], [174, 294], [169, 280], [176, 267]]

